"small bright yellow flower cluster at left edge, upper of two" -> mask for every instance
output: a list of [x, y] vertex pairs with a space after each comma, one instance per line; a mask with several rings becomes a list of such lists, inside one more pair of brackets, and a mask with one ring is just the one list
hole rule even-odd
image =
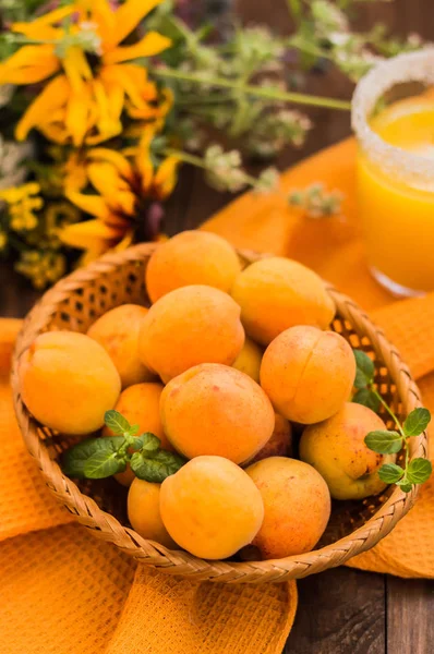
[[39, 193], [40, 186], [36, 182], [0, 191], [0, 199], [9, 207], [11, 229], [15, 231], [35, 229], [38, 223], [35, 211], [44, 205]]

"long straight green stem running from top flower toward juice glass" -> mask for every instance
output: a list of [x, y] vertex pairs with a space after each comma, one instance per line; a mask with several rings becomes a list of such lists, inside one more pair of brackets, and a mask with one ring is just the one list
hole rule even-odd
[[270, 100], [284, 100], [294, 102], [297, 105], [306, 105], [310, 107], [324, 107], [328, 109], [338, 109], [340, 111], [350, 111], [351, 104], [347, 100], [336, 100], [334, 98], [322, 98], [318, 96], [305, 95], [302, 93], [289, 93], [278, 90], [267, 86], [254, 86], [251, 84], [240, 84], [225, 77], [204, 77], [196, 73], [185, 73], [176, 71], [169, 68], [150, 66], [150, 71], [157, 77], [167, 80], [180, 80], [183, 82], [193, 82], [196, 84], [205, 84], [208, 86], [220, 86], [221, 88], [233, 88], [246, 95], [256, 96], [258, 98], [267, 98]]

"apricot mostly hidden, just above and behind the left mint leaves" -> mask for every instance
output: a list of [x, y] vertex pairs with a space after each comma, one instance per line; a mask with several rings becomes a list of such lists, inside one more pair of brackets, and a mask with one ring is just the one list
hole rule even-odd
[[[162, 429], [159, 415], [159, 401], [164, 386], [156, 383], [134, 384], [125, 388], [119, 397], [114, 407], [119, 413], [122, 413], [131, 425], [138, 425], [137, 436], [145, 432], [150, 432], [158, 436], [161, 447], [170, 451], [173, 450]], [[103, 436], [112, 436], [108, 427], [104, 427]], [[123, 486], [130, 486], [135, 479], [130, 465], [126, 470], [114, 475], [116, 480]]]

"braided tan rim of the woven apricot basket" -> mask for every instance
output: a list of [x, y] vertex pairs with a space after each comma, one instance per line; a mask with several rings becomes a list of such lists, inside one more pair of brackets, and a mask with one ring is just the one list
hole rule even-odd
[[[408, 494], [395, 487], [388, 499], [362, 526], [318, 549], [281, 559], [262, 561], [209, 561], [184, 550], [169, 550], [158, 543], [143, 538], [132, 529], [123, 526], [113, 516], [101, 510], [92, 497], [84, 495], [76, 484], [62, 473], [59, 464], [50, 458], [47, 446], [37, 434], [38, 423], [29, 415], [21, 399], [17, 378], [20, 355], [49, 323], [58, 305], [71, 292], [82, 287], [83, 283], [98, 279], [105, 272], [110, 272], [125, 263], [146, 258], [156, 246], [154, 243], [142, 243], [120, 253], [106, 254], [85, 268], [75, 270], [47, 291], [23, 323], [13, 355], [11, 377], [13, 402], [26, 447], [38, 463], [51, 493], [75, 516], [79, 522], [91, 529], [95, 535], [113, 543], [141, 562], [155, 566], [162, 572], [190, 576], [201, 580], [255, 583], [298, 579], [339, 566], [352, 556], [373, 547], [412, 507], [418, 495], [418, 486], [414, 486]], [[273, 256], [249, 250], [238, 250], [237, 252], [246, 261]], [[420, 392], [410, 371], [402, 362], [399, 352], [387, 341], [383, 330], [371, 322], [353, 300], [337, 291], [331, 284], [326, 283], [326, 288], [338, 307], [339, 316], [349, 320], [360, 336], [370, 338], [375, 354], [387, 367], [397, 387], [405, 412], [408, 413], [420, 407]], [[410, 457], [411, 459], [427, 458], [426, 433], [411, 439]]]

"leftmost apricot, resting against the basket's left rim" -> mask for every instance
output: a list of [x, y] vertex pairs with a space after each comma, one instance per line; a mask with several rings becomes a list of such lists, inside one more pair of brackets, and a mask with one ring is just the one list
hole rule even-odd
[[106, 350], [75, 331], [47, 331], [23, 353], [21, 392], [33, 415], [64, 434], [89, 434], [104, 425], [121, 380]]

